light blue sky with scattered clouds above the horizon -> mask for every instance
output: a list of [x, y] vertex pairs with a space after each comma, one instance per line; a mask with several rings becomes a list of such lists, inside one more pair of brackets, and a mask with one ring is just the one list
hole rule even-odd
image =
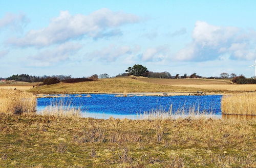
[[0, 1], [0, 77], [254, 75], [256, 1]]

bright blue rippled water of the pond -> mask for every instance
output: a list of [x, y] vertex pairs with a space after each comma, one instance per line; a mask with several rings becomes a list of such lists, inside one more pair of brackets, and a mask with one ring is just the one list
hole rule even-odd
[[[87, 94], [79, 94], [86, 96]], [[106, 115], [137, 115], [144, 111], [154, 109], [163, 109], [168, 111], [172, 104], [172, 111], [184, 109], [188, 111], [189, 107], [199, 108], [200, 111], [211, 112], [221, 115], [221, 95], [206, 96], [132, 96], [115, 97], [114, 94], [90, 94], [91, 97], [69, 97], [61, 98], [38, 98], [37, 108], [42, 109], [56, 99], [72, 101], [72, 106], [81, 107], [82, 111], [87, 113], [97, 113]]]

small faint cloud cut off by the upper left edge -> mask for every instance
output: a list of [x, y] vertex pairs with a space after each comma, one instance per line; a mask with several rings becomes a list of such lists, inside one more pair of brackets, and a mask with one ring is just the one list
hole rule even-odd
[[13, 30], [20, 31], [29, 19], [24, 14], [7, 13], [3, 18], [0, 18], [0, 29], [11, 27]]

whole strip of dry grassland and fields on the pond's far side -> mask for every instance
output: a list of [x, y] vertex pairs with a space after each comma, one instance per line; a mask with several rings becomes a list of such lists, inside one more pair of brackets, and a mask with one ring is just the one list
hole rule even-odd
[[[214, 93], [255, 91], [256, 85], [234, 85], [230, 79], [159, 79], [129, 77], [99, 79], [78, 83], [57, 83], [30, 89], [33, 93], [153, 93], [153, 92], [188, 92], [198, 90]], [[170, 93], [172, 95], [172, 93]], [[175, 94], [173, 94], [175, 95]]]

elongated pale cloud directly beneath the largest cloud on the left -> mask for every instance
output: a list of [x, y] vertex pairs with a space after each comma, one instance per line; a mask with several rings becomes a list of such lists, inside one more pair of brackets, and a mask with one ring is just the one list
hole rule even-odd
[[52, 66], [58, 62], [69, 60], [80, 48], [80, 44], [68, 42], [52, 49], [44, 49], [27, 60], [31, 61], [29, 66]]

